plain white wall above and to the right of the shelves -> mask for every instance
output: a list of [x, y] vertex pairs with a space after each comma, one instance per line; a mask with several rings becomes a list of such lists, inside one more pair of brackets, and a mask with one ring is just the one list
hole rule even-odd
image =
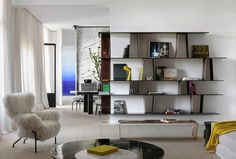
[[204, 100], [205, 111], [221, 115], [184, 118], [201, 121], [236, 118], [235, 0], [119, 0], [111, 1], [110, 13], [111, 32], [210, 32], [190, 36], [189, 45], [205, 43], [210, 47], [210, 56], [227, 57], [214, 62], [215, 78], [225, 80], [216, 84], [224, 95]]

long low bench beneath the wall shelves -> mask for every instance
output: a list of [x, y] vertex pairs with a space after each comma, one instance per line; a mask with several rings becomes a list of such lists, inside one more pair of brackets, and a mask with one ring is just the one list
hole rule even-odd
[[119, 120], [120, 138], [186, 137], [197, 139], [198, 123], [194, 120]]

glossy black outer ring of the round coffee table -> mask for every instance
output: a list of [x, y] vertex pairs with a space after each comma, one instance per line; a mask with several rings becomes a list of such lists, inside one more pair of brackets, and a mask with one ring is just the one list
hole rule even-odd
[[99, 145], [113, 145], [120, 149], [135, 152], [137, 159], [161, 159], [164, 150], [158, 146], [125, 139], [97, 139], [74, 141], [57, 145], [50, 150], [50, 156], [56, 159], [75, 159], [75, 154], [81, 150]]

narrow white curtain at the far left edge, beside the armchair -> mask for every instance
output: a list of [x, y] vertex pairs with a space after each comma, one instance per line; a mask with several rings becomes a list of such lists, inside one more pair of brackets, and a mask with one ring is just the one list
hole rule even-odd
[[0, 0], [0, 134], [11, 130], [11, 122], [2, 103], [2, 98], [11, 92], [11, 13], [11, 1]]

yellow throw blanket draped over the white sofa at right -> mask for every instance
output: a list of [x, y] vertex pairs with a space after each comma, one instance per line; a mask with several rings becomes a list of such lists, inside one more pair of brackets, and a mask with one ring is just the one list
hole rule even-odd
[[214, 153], [219, 144], [219, 136], [236, 131], [236, 121], [223, 121], [214, 124], [210, 139], [206, 145], [206, 151]]

